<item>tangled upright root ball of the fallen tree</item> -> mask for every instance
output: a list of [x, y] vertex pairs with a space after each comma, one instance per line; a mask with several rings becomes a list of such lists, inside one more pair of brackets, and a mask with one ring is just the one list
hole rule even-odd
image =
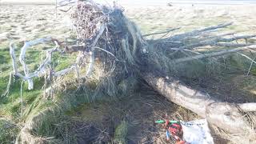
[[[78, 45], [69, 48], [79, 51], [81, 65], [89, 65], [86, 78], [94, 71], [95, 60], [102, 63], [104, 86], [117, 85], [122, 79], [134, 75], [138, 66], [139, 48], [146, 45], [142, 34], [118, 6], [102, 6], [92, 1], [79, 2], [71, 18], [77, 33]], [[89, 63], [88, 63], [89, 59]], [[108, 77], [108, 78], [106, 78]], [[114, 78], [114, 80], [110, 80]], [[110, 82], [110, 83], [109, 83]], [[115, 94], [115, 90], [111, 94]]]

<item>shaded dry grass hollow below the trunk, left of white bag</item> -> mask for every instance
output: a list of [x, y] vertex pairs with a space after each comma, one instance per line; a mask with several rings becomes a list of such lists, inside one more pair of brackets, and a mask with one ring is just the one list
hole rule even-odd
[[[118, 133], [117, 139], [128, 143], [166, 142], [162, 126], [154, 124], [155, 120], [162, 119], [166, 114], [168, 114], [168, 118], [174, 120], [189, 121], [198, 118], [196, 114], [191, 115], [189, 110], [168, 102], [166, 98], [151, 90], [146, 84], [139, 87], [140, 89], [135, 93], [114, 101], [109, 99], [79, 106], [78, 109], [69, 112], [70, 117], [78, 121], [90, 122], [101, 130], [114, 127], [115, 132], [114, 129], [112, 132], [110, 130], [109, 136], [115, 140], [117, 136], [114, 134]], [[105, 122], [110, 125], [106, 126]], [[119, 124], [122, 122], [126, 122], [128, 125], [127, 134], [123, 134], [124, 130], [120, 130], [126, 129], [126, 126], [120, 127]], [[119, 134], [120, 131], [122, 131], [122, 137]]]

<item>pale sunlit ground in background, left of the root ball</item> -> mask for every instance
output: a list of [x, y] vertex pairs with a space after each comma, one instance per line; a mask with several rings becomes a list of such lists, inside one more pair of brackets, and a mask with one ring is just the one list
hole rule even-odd
[[0, 42], [70, 35], [69, 16], [58, 14], [56, 18], [54, 6], [0, 6], [0, 10]]

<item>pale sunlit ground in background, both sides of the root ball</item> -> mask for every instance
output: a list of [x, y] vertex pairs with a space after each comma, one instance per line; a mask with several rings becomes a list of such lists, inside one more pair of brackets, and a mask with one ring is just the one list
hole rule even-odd
[[[127, 16], [138, 24], [142, 33], [180, 26], [182, 26], [181, 31], [187, 31], [222, 22], [234, 22], [234, 26], [229, 29], [236, 32], [249, 34], [256, 32], [254, 5], [124, 5], [123, 7]], [[54, 5], [0, 6], [0, 9], [0, 42], [4, 42], [5, 45], [10, 39], [23, 40], [44, 35], [62, 37], [71, 33], [69, 14], [58, 11], [56, 19]]]

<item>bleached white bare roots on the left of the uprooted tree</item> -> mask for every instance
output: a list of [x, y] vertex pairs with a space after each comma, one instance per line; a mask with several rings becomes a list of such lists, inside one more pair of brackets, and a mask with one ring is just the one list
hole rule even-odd
[[[86, 77], [90, 76], [92, 70], [94, 69], [94, 59], [95, 59], [94, 50], [97, 49], [97, 47], [95, 47], [95, 46], [98, 42], [98, 38], [101, 37], [104, 30], [105, 30], [105, 25], [102, 24], [100, 26], [100, 30], [98, 31], [98, 35], [94, 39], [94, 42], [92, 44], [92, 50], [89, 53], [90, 62], [89, 62], [89, 68], [86, 71]], [[54, 42], [55, 47], [52, 48], [52, 49], [46, 50], [46, 58], [44, 59], [44, 61], [40, 64], [40, 66], [38, 67], [37, 70], [30, 73], [30, 70], [29, 70], [29, 68], [28, 68], [28, 66], [26, 65], [26, 62], [25, 62], [26, 50], [30, 46], [34, 46], [34, 45], [38, 45], [38, 44], [42, 44], [42, 43], [47, 43], [47, 42]], [[22, 75], [21, 73], [18, 72], [18, 66], [17, 66], [17, 62], [16, 62], [14, 43], [10, 43], [10, 58], [12, 59], [12, 64], [13, 64], [13, 69], [14, 69], [13, 73], [14, 73], [15, 76], [17, 76], [19, 78], [22, 78], [22, 80], [28, 82], [28, 90], [33, 90], [33, 88], [34, 88], [33, 78], [42, 77], [42, 75], [48, 73], [49, 70], [50, 70], [50, 77], [51, 76], [58, 77], [58, 76], [68, 74], [68, 73], [78, 69], [78, 64], [82, 60], [82, 56], [83, 56], [82, 53], [78, 55], [76, 62], [72, 66], [70, 66], [66, 69], [59, 70], [59, 71], [54, 71], [49, 67], [51, 59], [52, 59], [52, 54], [54, 52], [62, 53], [62, 50], [59, 49], [60, 43], [61, 42], [58, 42], [58, 40], [56, 40], [54, 38], [50, 38], [50, 37], [48, 37], [48, 38], [38, 38], [38, 39], [35, 39], [33, 41], [24, 42], [24, 45], [22, 46], [21, 52], [19, 54], [19, 61], [22, 64], [22, 68], [24, 70], [25, 75]], [[72, 52], [74, 52], [74, 50]], [[72, 53], [72, 52], [70, 52], [70, 53]]]

